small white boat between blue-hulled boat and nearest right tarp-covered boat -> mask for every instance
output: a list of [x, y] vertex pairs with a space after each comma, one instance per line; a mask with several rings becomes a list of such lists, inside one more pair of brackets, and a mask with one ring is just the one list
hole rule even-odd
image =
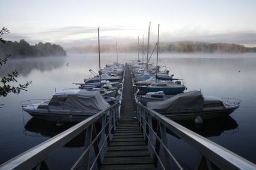
[[173, 97], [174, 95], [166, 95], [163, 91], [157, 91], [157, 92], [141, 92], [138, 91], [135, 94], [135, 97], [138, 101], [140, 101], [142, 104], [147, 105], [150, 101], [163, 101], [167, 100], [170, 97]]

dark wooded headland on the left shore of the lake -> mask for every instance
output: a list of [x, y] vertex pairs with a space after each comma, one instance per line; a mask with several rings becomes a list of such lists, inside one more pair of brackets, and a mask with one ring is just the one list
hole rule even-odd
[[0, 57], [6, 54], [11, 54], [11, 57], [62, 56], [66, 55], [66, 51], [60, 45], [50, 42], [30, 45], [21, 39], [20, 42], [6, 41], [5, 44], [0, 43]]

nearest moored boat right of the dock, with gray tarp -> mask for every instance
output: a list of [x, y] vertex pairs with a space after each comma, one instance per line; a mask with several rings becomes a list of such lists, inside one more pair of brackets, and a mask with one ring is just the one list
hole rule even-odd
[[172, 120], [196, 120], [227, 116], [240, 106], [241, 100], [203, 96], [201, 91], [177, 94], [164, 101], [151, 101], [147, 107]]

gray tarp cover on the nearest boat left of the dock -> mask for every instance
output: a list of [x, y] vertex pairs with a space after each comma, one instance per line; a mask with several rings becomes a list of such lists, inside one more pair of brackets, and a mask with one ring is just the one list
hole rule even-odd
[[87, 112], [99, 112], [109, 107], [99, 91], [87, 91], [82, 89], [75, 95], [68, 95], [65, 103], [69, 106], [78, 107]]

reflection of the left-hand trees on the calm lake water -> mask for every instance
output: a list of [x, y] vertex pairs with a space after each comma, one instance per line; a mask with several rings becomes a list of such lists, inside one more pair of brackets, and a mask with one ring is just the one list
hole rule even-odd
[[32, 70], [51, 71], [65, 64], [66, 57], [29, 57], [29, 58], [14, 58], [9, 59], [7, 64], [1, 68], [0, 76], [17, 70], [19, 75], [27, 76]]

